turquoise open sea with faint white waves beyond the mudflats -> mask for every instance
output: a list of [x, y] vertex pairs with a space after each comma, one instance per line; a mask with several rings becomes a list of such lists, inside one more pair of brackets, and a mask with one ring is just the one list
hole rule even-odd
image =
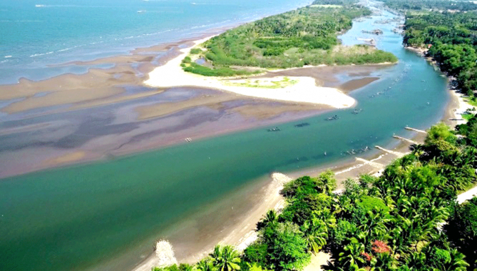
[[[49, 66], [127, 53], [253, 21], [310, 0], [0, 0], [0, 84], [86, 67]], [[138, 13], [140, 12], [140, 13]]]

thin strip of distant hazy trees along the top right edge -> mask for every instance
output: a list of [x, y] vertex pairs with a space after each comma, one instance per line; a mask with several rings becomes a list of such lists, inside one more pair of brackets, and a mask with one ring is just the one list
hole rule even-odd
[[471, 1], [448, 0], [384, 0], [394, 10], [477, 10], [477, 4]]

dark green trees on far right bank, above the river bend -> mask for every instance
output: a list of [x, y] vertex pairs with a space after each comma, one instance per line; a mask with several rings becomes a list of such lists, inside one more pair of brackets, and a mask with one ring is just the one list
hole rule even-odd
[[474, 100], [477, 89], [477, 12], [408, 14], [404, 44], [432, 47], [441, 70], [456, 77], [458, 88]]

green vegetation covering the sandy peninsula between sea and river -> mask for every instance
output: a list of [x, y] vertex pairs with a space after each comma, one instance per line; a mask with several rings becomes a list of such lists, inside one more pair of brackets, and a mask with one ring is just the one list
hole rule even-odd
[[[326, 5], [334, 5], [326, 7]], [[313, 5], [236, 27], [205, 42], [200, 53], [212, 66], [184, 64], [201, 75], [244, 75], [245, 67], [292, 68], [319, 64], [397, 62], [374, 47], [339, 46], [337, 33], [352, 27], [352, 19], [369, 15], [367, 8], [347, 0], [317, 0]]]

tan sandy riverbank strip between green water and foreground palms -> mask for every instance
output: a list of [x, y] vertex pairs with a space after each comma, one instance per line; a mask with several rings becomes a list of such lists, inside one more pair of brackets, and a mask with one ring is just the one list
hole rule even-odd
[[[413, 133], [410, 139], [424, 142], [424, 138], [425, 135], [422, 133]], [[256, 223], [265, 216], [268, 210], [274, 209], [280, 211], [284, 207], [285, 199], [280, 195], [280, 190], [282, 190], [284, 183], [287, 181], [304, 175], [315, 177], [319, 175], [320, 172], [332, 170], [335, 172], [335, 178], [338, 181], [338, 190], [341, 190], [343, 189], [343, 181], [348, 178], [356, 178], [363, 174], [380, 175], [380, 172], [385, 166], [402, 155], [409, 153], [410, 146], [411, 143], [409, 142], [395, 140], [389, 146], [385, 146], [389, 148], [389, 150], [382, 151], [376, 149], [376, 151], [367, 155], [363, 154], [363, 158], [343, 159], [339, 162], [332, 162], [319, 167], [305, 168], [292, 172], [273, 172], [267, 177], [269, 181], [267, 181], [265, 187], [262, 188], [260, 200], [256, 201], [253, 208], [236, 218], [239, 221], [238, 223], [224, 227], [220, 233], [216, 234], [221, 235], [221, 237], [215, 237], [215, 240], [209, 240], [208, 246], [195, 250], [192, 255], [176, 257], [177, 261], [179, 263], [196, 263], [201, 258], [206, 257], [208, 253], [212, 251], [215, 244], [230, 244], [235, 246], [238, 250], [243, 250], [249, 244], [252, 244], [257, 237], [255, 231]], [[223, 232], [226, 232], [225, 236]], [[321, 266], [321, 264], [325, 264], [328, 259], [328, 255], [320, 254], [314, 258], [313, 266]], [[138, 263], [132, 271], [149, 271], [155, 266], [157, 260], [156, 254], [151, 252], [151, 254]], [[317, 264], [316, 261], [321, 262]]]

